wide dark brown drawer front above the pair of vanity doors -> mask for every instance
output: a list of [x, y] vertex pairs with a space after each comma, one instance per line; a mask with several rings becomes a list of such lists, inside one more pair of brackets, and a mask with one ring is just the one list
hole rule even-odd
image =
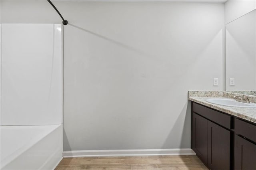
[[226, 115], [224, 113], [220, 113], [218, 111], [214, 111], [202, 105], [193, 102], [192, 105], [193, 112], [197, 113], [198, 115], [202, 115], [203, 117], [210, 119], [219, 125], [222, 125], [226, 128], [231, 128], [231, 116]]

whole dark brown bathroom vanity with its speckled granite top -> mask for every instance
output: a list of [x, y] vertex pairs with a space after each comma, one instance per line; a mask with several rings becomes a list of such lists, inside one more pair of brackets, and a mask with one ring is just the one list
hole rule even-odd
[[256, 108], [214, 105], [208, 98], [189, 97], [191, 148], [209, 169], [256, 170]]

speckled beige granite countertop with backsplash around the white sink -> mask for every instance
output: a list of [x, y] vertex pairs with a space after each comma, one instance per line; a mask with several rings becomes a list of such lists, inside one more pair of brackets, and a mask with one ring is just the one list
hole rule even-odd
[[[204, 94], [202, 95], [202, 93], [204, 93]], [[228, 113], [230, 115], [239, 117], [241, 119], [245, 119], [247, 121], [256, 123], [256, 108], [228, 107], [228, 106], [222, 106], [222, 105], [208, 103], [206, 101], [206, 99], [210, 99], [210, 98], [214, 98], [214, 97], [215, 98], [216, 97], [230, 98], [233, 95], [237, 95], [236, 93], [232, 93], [232, 94], [228, 94], [228, 93], [231, 93], [231, 92], [216, 91], [216, 93], [215, 93], [213, 91], [210, 91], [210, 93], [207, 93], [205, 91], [204, 92], [200, 91], [200, 93], [195, 93], [195, 91], [189, 91], [188, 100], [194, 101], [196, 103], [210, 107], [212, 109], [216, 109], [218, 111]], [[248, 97], [251, 97], [251, 96], [249, 95]], [[252, 99], [252, 101], [255, 101], [255, 100]]]

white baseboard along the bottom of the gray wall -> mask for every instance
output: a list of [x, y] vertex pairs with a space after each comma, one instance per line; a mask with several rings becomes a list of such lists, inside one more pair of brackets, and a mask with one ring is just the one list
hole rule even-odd
[[152, 155], [195, 155], [190, 149], [135, 149], [135, 150], [74, 150], [64, 151], [63, 157], [86, 156], [152, 156]]

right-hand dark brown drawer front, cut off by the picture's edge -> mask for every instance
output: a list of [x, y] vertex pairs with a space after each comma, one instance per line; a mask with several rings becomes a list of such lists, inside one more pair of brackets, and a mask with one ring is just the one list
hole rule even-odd
[[256, 142], [256, 126], [240, 119], [235, 119], [236, 134], [240, 134], [254, 142]]

